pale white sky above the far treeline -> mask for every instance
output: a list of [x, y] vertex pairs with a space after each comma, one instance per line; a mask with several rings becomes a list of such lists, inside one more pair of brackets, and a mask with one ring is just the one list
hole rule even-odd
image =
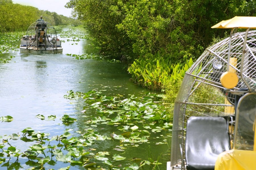
[[56, 12], [59, 15], [71, 16], [71, 8], [65, 8], [69, 0], [12, 0], [13, 3], [21, 5], [28, 5], [36, 7], [40, 10], [48, 10], [50, 12]]

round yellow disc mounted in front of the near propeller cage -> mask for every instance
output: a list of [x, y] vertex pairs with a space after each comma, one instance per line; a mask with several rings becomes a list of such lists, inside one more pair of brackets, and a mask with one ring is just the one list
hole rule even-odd
[[236, 85], [238, 83], [238, 77], [237, 77], [236, 73], [226, 71], [226, 72], [222, 73], [222, 75], [220, 76], [220, 82], [223, 87], [232, 89], [232, 88], [236, 87]]

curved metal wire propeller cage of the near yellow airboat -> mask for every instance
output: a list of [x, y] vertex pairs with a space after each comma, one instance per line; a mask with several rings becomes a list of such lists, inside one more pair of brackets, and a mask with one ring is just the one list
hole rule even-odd
[[[235, 92], [256, 88], [256, 31], [248, 32], [243, 50], [245, 35], [245, 32], [234, 33], [231, 38], [210, 46], [186, 72], [174, 105], [171, 166], [183, 160], [181, 152], [190, 116], [232, 116]], [[220, 82], [227, 67], [238, 76], [238, 84], [228, 90]]]

